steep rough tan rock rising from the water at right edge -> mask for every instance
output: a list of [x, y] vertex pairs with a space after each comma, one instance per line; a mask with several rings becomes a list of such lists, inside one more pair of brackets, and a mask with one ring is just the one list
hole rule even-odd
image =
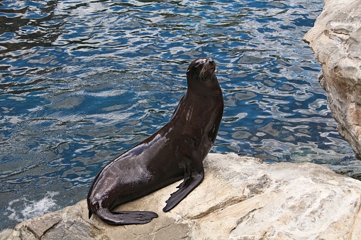
[[319, 82], [328, 93], [338, 131], [361, 159], [360, 0], [325, 0], [304, 40], [321, 64]]

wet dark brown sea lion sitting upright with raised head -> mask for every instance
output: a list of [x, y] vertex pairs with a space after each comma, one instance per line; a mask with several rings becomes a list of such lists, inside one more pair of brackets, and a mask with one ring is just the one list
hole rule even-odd
[[148, 195], [184, 178], [163, 208], [169, 211], [204, 179], [203, 160], [211, 150], [223, 115], [216, 62], [198, 58], [187, 69], [187, 92], [165, 126], [108, 163], [94, 179], [87, 204], [108, 224], [145, 224], [155, 212], [122, 211], [119, 204]]

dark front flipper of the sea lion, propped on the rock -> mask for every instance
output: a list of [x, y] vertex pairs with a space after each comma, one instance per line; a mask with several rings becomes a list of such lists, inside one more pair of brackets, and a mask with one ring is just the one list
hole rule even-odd
[[172, 209], [175, 205], [177, 205], [180, 201], [187, 197], [191, 190], [194, 190], [196, 186], [198, 186], [204, 178], [204, 171], [201, 173], [193, 171], [187, 178], [184, 178], [184, 181], [177, 187], [179, 190], [173, 192], [170, 195], [170, 198], [165, 201], [167, 205], [163, 208], [163, 212], [167, 212]]

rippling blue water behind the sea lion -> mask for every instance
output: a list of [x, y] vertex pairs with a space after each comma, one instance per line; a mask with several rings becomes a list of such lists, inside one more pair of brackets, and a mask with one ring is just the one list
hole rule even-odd
[[357, 176], [301, 39], [322, 0], [1, 1], [0, 229], [86, 197], [164, 125], [201, 56], [225, 112], [213, 152]]

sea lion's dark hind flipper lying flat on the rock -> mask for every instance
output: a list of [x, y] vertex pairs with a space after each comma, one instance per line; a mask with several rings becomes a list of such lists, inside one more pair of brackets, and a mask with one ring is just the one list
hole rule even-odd
[[149, 211], [111, 212], [109, 209], [104, 209], [104, 208], [99, 209], [95, 214], [99, 217], [99, 219], [103, 220], [107, 224], [112, 224], [112, 225], [146, 224], [148, 222], [151, 222], [153, 218], [158, 217], [158, 214], [156, 214], [155, 212], [149, 212]]

